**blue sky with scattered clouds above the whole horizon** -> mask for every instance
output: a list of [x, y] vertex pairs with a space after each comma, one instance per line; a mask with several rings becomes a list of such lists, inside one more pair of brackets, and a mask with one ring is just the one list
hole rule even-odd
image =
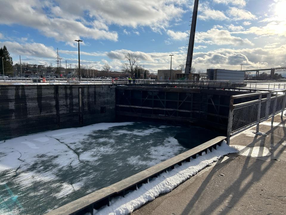
[[[121, 70], [126, 53], [157, 72], [184, 63], [193, 0], [1, 0], [0, 47], [13, 63]], [[286, 0], [199, 0], [192, 66], [286, 66]], [[65, 66], [65, 65], [64, 65]], [[283, 74], [283, 72], [282, 72]]]

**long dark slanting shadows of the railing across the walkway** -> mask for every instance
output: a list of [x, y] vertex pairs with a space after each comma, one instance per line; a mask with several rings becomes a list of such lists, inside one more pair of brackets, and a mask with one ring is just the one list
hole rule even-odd
[[[285, 120], [283, 120], [282, 122], [285, 122]], [[274, 157], [274, 155], [276, 154], [281, 154], [286, 146], [282, 145], [281, 143], [284, 142], [285, 140], [285, 134], [286, 134], [286, 128], [285, 128], [285, 124], [283, 126], [283, 131], [284, 131], [284, 136], [282, 136], [282, 139], [275, 143], [274, 142], [274, 131], [279, 128], [279, 126], [273, 127], [271, 126], [271, 129], [266, 133], [266, 134], [270, 134], [270, 144], [272, 146], [276, 145], [278, 146], [273, 147], [273, 151], [272, 151], [272, 155], [271, 158]], [[260, 145], [265, 145], [265, 136], [255, 136], [253, 141], [248, 144], [248, 145], [253, 145], [257, 142], [261, 142]], [[282, 146], [282, 147], [279, 147]], [[260, 150], [263, 150], [263, 148], [260, 148]], [[250, 155], [252, 153], [252, 151], [249, 151]], [[238, 157], [239, 155], [237, 155]], [[235, 159], [229, 161], [229, 162], [235, 162]], [[241, 199], [243, 198], [243, 196], [245, 195], [245, 193], [248, 191], [248, 189], [251, 187], [251, 185], [255, 182], [258, 182], [262, 176], [269, 171], [269, 169], [271, 169], [273, 167], [273, 165], [275, 165], [274, 161], [271, 162], [265, 162], [266, 165], [260, 165], [261, 164], [261, 160], [259, 159], [253, 159], [249, 156], [245, 157], [245, 162], [241, 168], [241, 172], [239, 173], [237, 179], [235, 181], [233, 181], [231, 183], [231, 185], [225, 189], [225, 191], [220, 194], [219, 196], [214, 196], [214, 200], [212, 202], [209, 202], [209, 206], [204, 208], [203, 211], [200, 211], [201, 215], [204, 214], [209, 214], [210, 211], [214, 211], [215, 209], [218, 209], [218, 207], [221, 206], [221, 204], [223, 202], [225, 202], [226, 200], [228, 200], [228, 205], [229, 207], [224, 207], [220, 210], [220, 214], [228, 214], [231, 210], [231, 208]], [[221, 164], [221, 160], [219, 162], [217, 162], [217, 164], [215, 165], [215, 167], [210, 171], [210, 173], [208, 174], [208, 176], [206, 177], [206, 179], [203, 181], [203, 183], [201, 184], [200, 188], [198, 189], [198, 191], [194, 194], [193, 198], [190, 200], [190, 202], [186, 205], [184, 211], [181, 214], [191, 214], [195, 205], [199, 204], [200, 202], [198, 202], [198, 200], [202, 197], [205, 188], [207, 186], [211, 185], [212, 179], [214, 176], [217, 175], [217, 172], [220, 171], [221, 168], [223, 168], [225, 165], [220, 165]], [[229, 164], [231, 166], [231, 164]], [[232, 174], [233, 171], [237, 171], [234, 169], [229, 169], [229, 174]], [[245, 179], [248, 179], [247, 182], [245, 183]]]

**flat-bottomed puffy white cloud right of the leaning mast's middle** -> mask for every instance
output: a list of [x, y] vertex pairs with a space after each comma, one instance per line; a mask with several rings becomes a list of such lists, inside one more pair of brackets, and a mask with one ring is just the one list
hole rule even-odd
[[207, 32], [197, 32], [195, 42], [233, 46], [254, 45], [248, 39], [231, 36], [231, 33], [228, 30], [219, 30], [216, 28], [212, 28]]

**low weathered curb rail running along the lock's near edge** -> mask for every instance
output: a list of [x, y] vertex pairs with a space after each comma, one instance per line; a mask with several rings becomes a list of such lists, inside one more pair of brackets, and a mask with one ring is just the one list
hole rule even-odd
[[149, 179], [157, 177], [164, 171], [174, 169], [175, 165], [182, 165], [182, 162], [190, 162], [191, 159], [195, 159], [198, 155], [202, 155], [203, 152], [207, 153], [208, 150], [212, 151], [213, 149], [216, 149], [217, 145], [220, 146], [221, 142], [225, 139], [226, 137], [224, 136], [216, 137], [153, 167], [123, 179], [122, 181], [83, 196], [80, 199], [61, 206], [60, 208], [52, 210], [45, 215], [81, 215], [88, 212], [93, 215], [93, 209], [98, 209], [103, 205], [109, 206], [111, 198], [118, 195], [124, 197], [126, 191], [140, 189], [138, 188], [138, 185], [148, 183]]

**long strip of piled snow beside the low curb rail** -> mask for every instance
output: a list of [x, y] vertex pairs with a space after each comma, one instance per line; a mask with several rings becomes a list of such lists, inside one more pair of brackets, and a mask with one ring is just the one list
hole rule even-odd
[[[122, 196], [111, 199], [110, 206], [103, 206], [99, 210], [94, 210], [95, 215], [124, 215], [130, 214], [136, 208], [144, 205], [158, 197], [161, 193], [172, 191], [179, 184], [189, 177], [195, 175], [207, 165], [217, 161], [223, 155], [236, 153], [237, 150], [230, 147], [224, 141], [217, 150], [208, 151], [207, 154], [192, 159], [191, 162], [183, 162], [181, 166], [176, 165], [175, 169], [162, 173], [158, 178], [154, 178], [147, 184], [143, 184], [137, 191], [130, 192]], [[89, 215], [87, 213], [86, 215]]]

